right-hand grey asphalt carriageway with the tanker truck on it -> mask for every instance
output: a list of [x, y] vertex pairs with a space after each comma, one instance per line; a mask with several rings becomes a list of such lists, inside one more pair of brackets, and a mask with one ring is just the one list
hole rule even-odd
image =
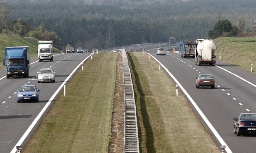
[[[216, 66], [197, 66], [195, 59], [182, 58], [179, 53], [167, 53], [166, 56], [156, 55], [156, 50], [149, 50], [148, 53], [171, 72], [195, 102], [196, 107], [198, 106], [202, 111], [207, 121], [200, 116], [200, 112], [188, 98], [199, 119], [219, 147], [225, 145], [226, 151], [233, 153], [255, 152], [256, 137], [236, 136], [233, 121], [233, 118], [242, 112], [256, 112], [256, 76], [254, 74], [219, 60]], [[196, 88], [195, 77], [200, 73], [213, 74], [216, 81], [215, 89]]]

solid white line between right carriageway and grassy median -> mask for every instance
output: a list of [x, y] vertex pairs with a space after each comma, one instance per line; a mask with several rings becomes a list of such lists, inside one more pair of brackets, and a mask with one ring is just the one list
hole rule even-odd
[[[160, 63], [154, 56], [150, 55], [151, 57], [154, 58], [154, 60], [156, 60], [156, 62]], [[219, 135], [219, 133], [216, 131], [216, 129], [212, 126], [212, 124], [210, 123], [210, 121], [207, 119], [207, 117], [204, 115], [204, 113], [200, 110], [200, 108], [197, 106], [197, 104], [195, 103], [195, 101], [190, 97], [190, 95], [188, 94], [188, 92], [183, 88], [183, 86], [181, 86], [181, 84], [179, 83], [179, 81], [173, 76], [173, 74], [171, 74], [171, 72], [169, 72], [169, 70], [161, 64], [161, 66], [163, 67], [163, 69], [166, 70], [166, 72], [173, 78], [173, 80], [176, 82], [176, 84], [178, 84], [178, 86], [180, 86], [180, 89], [183, 91], [183, 93], [188, 97], [188, 99], [190, 100], [191, 104], [195, 107], [195, 109], [197, 110], [197, 112], [199, 113], [199, 115], [202, 117], [202, 119], [205, 121], [205, 123], [207, 124], [207, 126], [210, 128], [210, 130], [212, 131], [212, 133], [216, 136], [216, 138], [219, 140], [219, 143], [222, 146], [226, 146], [225, 151], [227, 151], [227, 153], [232, 153], [232, 151], [229, 149], [229, 147], [227, 146], [227, 144], [225, 143], [225, 141], [222, 139], [222, 137]]]

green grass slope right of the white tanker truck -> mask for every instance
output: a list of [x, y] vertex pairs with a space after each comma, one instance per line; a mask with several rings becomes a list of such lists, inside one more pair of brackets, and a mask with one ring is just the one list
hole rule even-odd
[[[256, 65], [256, 38], [220, 37], [213, 41], [216, 58], [251, 72], [251, 64]], [[256, 70], [253, 70], [256, 74]]]

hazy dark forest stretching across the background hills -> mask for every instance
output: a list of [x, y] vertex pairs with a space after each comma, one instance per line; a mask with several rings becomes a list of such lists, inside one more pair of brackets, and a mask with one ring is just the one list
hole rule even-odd
[[[167, 1], [167, 0], [166, 0]], [[108, 48], [137, 43], [207, 38], [218, 20], [235, 25], [244, 19], [243, 31], [254, 31], [256, 0], [190, 0], [166, 3], [122, 3], [88, 5], [83, 0], [5, 1], [9, 22], [56, 34], [60, 49]], [[143, 4], [143, 5], [132, 5]], [[42, 29], [43, 26], [43, 29]], [[110, 39], [114, 38], [114, 39]]]

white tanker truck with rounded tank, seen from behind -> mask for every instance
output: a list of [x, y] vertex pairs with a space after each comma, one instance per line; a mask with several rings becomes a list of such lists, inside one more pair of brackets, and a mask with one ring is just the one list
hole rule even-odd
[[195, 42], [195, 65], [213, 65], [216, 63], [215, 44], [212, 40], [197, 39]]

